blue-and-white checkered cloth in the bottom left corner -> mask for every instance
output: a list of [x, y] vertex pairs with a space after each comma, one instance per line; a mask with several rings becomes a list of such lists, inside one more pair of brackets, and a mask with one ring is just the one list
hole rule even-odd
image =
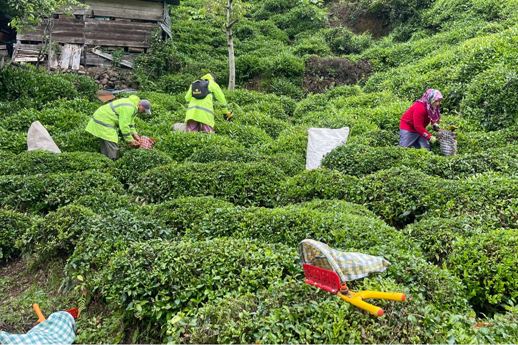
[[57, 311], [31, 328], [26, 334], [0, 332], [0, 344], [4, 345], [54, 345], [71, 344], [76, 338], [76, 321], [70, 313]]

